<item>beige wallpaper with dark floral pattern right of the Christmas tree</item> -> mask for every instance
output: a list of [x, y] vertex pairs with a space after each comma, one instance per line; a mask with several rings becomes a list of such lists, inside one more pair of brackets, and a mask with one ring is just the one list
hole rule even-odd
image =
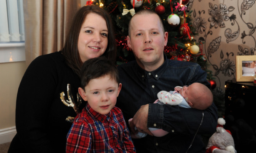
[[190, 0], [193, 27], [216, 89], [225, 92], [225, 81], [236, 78], [236, 55], [256, 55], [255, 0]]

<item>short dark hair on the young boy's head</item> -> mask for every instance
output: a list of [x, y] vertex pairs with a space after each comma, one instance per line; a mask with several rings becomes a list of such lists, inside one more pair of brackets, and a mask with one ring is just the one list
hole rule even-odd
[[91, 58], [84, 62], [81, 71], [81, 87], [84, 89], [92, 79], [96, 79], [110, 74], [111, 79], [114, 79], [118, 84], [119, 74], [114, 61], [105, 57]]

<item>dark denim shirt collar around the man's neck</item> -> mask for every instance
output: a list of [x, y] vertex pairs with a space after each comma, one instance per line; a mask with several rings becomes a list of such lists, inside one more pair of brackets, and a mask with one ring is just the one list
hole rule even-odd
[[145, 76], [147, 75], [152, 75], [156, 80], [158, 80], [164, 73], [164, 70], [167, 67], [167, 63], [168, 63], [167, 56], [164, 54], [164, 63], [160, 67], [158, 67], [156, 70], [149, 72], [142, 69], [136, 62], [135, 69], [137, 69], [137, 72], [135, 74], [137, 74], [140, 78], [142, 78], [142, 80], [144, 80]]

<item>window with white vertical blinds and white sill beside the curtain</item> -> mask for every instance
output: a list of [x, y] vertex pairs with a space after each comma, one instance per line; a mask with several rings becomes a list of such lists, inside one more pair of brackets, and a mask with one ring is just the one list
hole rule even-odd
[[25, 61], [23, 0], [0, 0], [0, 63]]

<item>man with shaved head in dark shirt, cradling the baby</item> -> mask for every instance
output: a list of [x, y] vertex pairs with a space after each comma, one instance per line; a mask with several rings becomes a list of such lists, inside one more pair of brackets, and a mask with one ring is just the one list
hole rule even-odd
[[[132, 17], [127, 44], [136, 61], [118, 66], [123, 89], [117, 98], [117, 107], [121, 108], [126, 122], [133, 118], [132, 133], [148, 134], [133, 139], [138, 153], [204, 153], [205, 144], [198, 134], [211, 135], [216, 131], [218, 115], [214, 104], [203, 111], [153, 104], [160, 90], [173, 90], [175, 86], [188, 86], [193, 82], [210, 88], [206, 72], [198, 64], [166, 58], [167, 41], [168, 33], [155, 12], [141, 10]], [[169, 134], [153, 137], [149, 127], [162, 128]]]

